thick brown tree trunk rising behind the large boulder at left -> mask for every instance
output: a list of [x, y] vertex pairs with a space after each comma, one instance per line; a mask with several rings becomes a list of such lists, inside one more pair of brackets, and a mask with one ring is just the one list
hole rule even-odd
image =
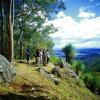
[[13, 0], [6, 0], [6, 28], [7, 28], [7, 58], [10, 62], [13, 60], [13, 21], [12, 21], [12, 7]]

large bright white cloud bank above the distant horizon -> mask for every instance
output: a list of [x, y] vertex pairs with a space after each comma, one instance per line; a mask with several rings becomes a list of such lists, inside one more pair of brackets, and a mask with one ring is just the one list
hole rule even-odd
[[100, 47], [100, 43], [96, 43], [96, 41], [83, 43], [81, 41], [100, 38], [100, 17], [84, 18], [77, 22], [71, 16], [64, 15], [63, 18], [58, 17], [49, 23], [58, 28], [58, 31], [51, 35], [55, 43], [55, 48], [62, 48], [66, 43], [72, 43], [76, 47]]

